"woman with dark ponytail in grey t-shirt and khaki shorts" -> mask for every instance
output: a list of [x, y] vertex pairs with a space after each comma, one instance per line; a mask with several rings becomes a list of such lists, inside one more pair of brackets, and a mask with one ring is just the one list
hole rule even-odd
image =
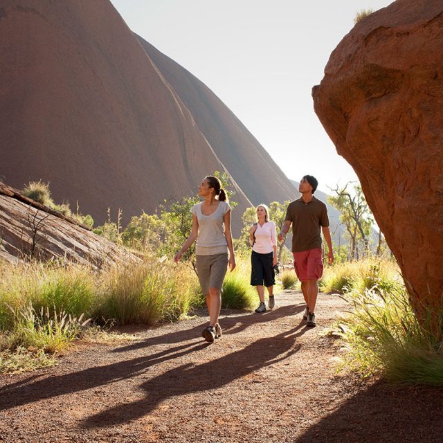
[[[219, 315], [221, 308], [221, 287], [229, 264], [235, 268], [233, 237], [230, 233], [230, 206], [226, 192], [221, 188], [217, 177], [208, 176], [199, 186], [199, 196], [204, 201], [192, 207], [192, 230], [182, 248], [174, 255], [179, 262], [183, 253], [197, 239], [197, 273], [201, 290], [206, 296], [210, 324], [201, 335], [213, 343], [221, 337]], [[229, 251], [229, 255], [228, 255]]]

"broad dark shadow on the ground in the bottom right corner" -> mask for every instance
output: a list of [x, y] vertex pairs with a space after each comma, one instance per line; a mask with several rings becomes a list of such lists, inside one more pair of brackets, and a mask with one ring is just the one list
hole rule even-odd
[[379, 381], [294, 443], [442, 443], [442, 399], [443, 388], [399, 388]]

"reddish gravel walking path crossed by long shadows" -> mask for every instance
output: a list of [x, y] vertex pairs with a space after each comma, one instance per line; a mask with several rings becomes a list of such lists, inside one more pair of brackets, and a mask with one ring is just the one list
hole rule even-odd
[[2, 377], [0, 442], [443, 442], [442, 389], [334, 375], [341, 298], [320, 294], [314, 328], [300, 293], [276, 300], [223, 311], [212, 345], [202, 314]]

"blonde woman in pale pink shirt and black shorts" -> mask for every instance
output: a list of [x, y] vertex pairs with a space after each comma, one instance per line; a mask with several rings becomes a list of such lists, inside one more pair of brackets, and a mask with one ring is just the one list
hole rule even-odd
[[275, 305], [273, 286], [275, 284], [274, 266], [277, 264], [277, 235], [275, 223], [269, 220], [269, 208], [265, 204], [257, 206], [257, 223], [249, 229], [251, 253], [251, 284], [257, 287], [260, 305], [255, 312], [265, 312], [264, 287], [269, 293], [269, 309]]

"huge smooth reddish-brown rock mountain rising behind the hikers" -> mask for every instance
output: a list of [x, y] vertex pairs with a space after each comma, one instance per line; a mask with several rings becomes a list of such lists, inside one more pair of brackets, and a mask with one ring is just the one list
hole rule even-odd
[[50, 182], [97, 224], [108, 207], [125, 224], [227, 172], [236, 235], [251, 203], [294, 197], [221, 100], [144, 45], [109, 0], [1, 1], [0, 180]]

